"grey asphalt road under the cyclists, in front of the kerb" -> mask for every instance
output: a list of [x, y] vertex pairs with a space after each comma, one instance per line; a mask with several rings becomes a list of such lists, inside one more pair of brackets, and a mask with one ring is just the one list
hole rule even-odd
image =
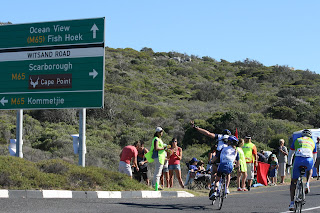
[[[304, 212], [320, 212], [320, 181], [310, 183]], [[0, 199], [0, 212], [10, 213], [168, 213], [168, 212], [287, 212], [289, 186], [231, 192], [221, 210], [207, 197], [159, 199]]]

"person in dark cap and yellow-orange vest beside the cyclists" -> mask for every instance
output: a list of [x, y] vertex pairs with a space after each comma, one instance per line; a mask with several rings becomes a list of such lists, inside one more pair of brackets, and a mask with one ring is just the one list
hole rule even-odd
[[257, 147], [251, 142], [250, 135], [245, 136], [242, 150], [247, 164], [248, 191], [250, 191], [254, 179], [254, 169], [258, 167]]

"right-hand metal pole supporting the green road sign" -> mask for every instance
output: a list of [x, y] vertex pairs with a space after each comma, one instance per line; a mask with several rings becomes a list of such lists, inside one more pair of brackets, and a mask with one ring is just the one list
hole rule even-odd
[[86, 108], [79, 113], [79, 166], [86, 166]]

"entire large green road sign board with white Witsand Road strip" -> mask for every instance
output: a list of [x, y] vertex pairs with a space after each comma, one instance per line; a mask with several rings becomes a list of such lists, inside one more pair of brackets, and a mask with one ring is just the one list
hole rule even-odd
[[0, 73], [0, 109], [103, 107], [104, 18], [0, 26]]

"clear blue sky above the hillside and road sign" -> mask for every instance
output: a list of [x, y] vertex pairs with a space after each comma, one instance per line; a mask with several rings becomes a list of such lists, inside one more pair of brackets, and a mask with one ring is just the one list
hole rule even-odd
[[108, 47], [250, 58], [320, 74], [319, 10], [318, 0], [10, 0], [0, 21], [105, 17]]

